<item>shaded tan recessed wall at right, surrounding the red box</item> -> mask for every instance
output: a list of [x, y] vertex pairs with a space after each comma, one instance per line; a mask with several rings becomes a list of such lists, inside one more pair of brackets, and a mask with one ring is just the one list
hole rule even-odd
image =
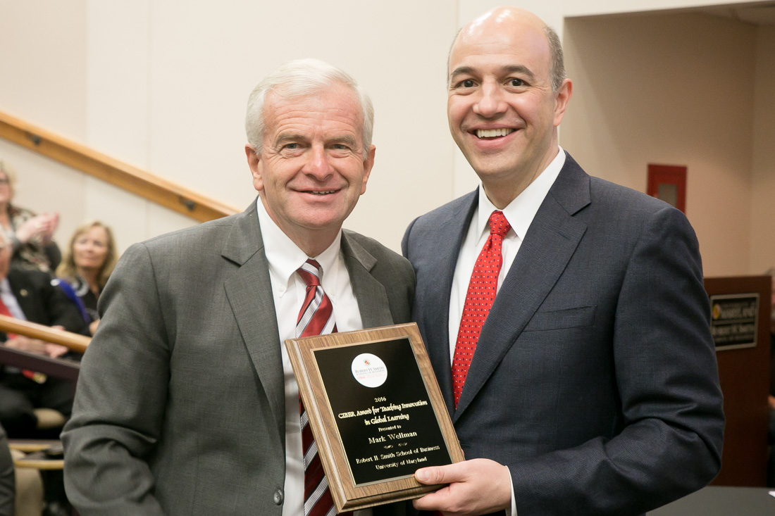
[[565, 47], [565, 149], [639, 191], [648, 163], [686, 165], [705, 273], [749, 273], [753, 26], [704, 14], [568, 19]]

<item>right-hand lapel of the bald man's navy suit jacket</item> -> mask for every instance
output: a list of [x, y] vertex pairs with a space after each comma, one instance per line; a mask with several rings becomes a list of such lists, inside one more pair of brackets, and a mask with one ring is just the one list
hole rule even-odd
[[460, 418], [565, 270], [587, 230], [573, 215], [589, 202], [589, 176], [568, 156], [482, 326], [454, 420]]

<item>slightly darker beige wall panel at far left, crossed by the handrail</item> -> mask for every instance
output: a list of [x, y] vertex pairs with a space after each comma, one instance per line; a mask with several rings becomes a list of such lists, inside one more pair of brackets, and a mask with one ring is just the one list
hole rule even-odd
[[[86, 136], [85, 0], [0, 0], [0, 109], [67, 138]], [[41, 12], [46, 15], [42, 15]], [[0, 139], [0, 160], [19, 174], [16, 200], [39, 212], [84, 215], [83, 174]], [[65, 222], [67, 224], [67, 222]]]

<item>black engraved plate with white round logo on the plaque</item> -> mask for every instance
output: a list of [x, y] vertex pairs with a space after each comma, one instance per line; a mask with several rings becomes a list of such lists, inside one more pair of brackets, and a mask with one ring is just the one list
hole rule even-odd
[[[356, 486], [452, 463], [409, 339], [313, 353]], [[353, 363], [368, 370], [372, 357], [384, 363], [378, 387], [360, 384], [352, 372]]]

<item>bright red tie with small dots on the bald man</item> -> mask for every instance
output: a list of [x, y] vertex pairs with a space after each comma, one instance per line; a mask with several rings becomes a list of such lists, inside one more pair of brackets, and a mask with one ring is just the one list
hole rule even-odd
[[501, 272], [501, 244], [503, 237], [512, 228], [503, 216], [503, 212], [492, 212], [490, 215], [490, 236], [484, 243], [481, 253], [474, 264], [474, 272], [468, 284], [466, 303], [463, 305], [463, 315], [460, 317], [460, 330], [457, 333], [455, 356], [452, 360], [452, 387], [455, 395], [455, 408], [466, 383], [468, 366], [474, 358], [477, 349], [479, 333], [484, 320], [490, 313], [498, 291], [498, 274]]

